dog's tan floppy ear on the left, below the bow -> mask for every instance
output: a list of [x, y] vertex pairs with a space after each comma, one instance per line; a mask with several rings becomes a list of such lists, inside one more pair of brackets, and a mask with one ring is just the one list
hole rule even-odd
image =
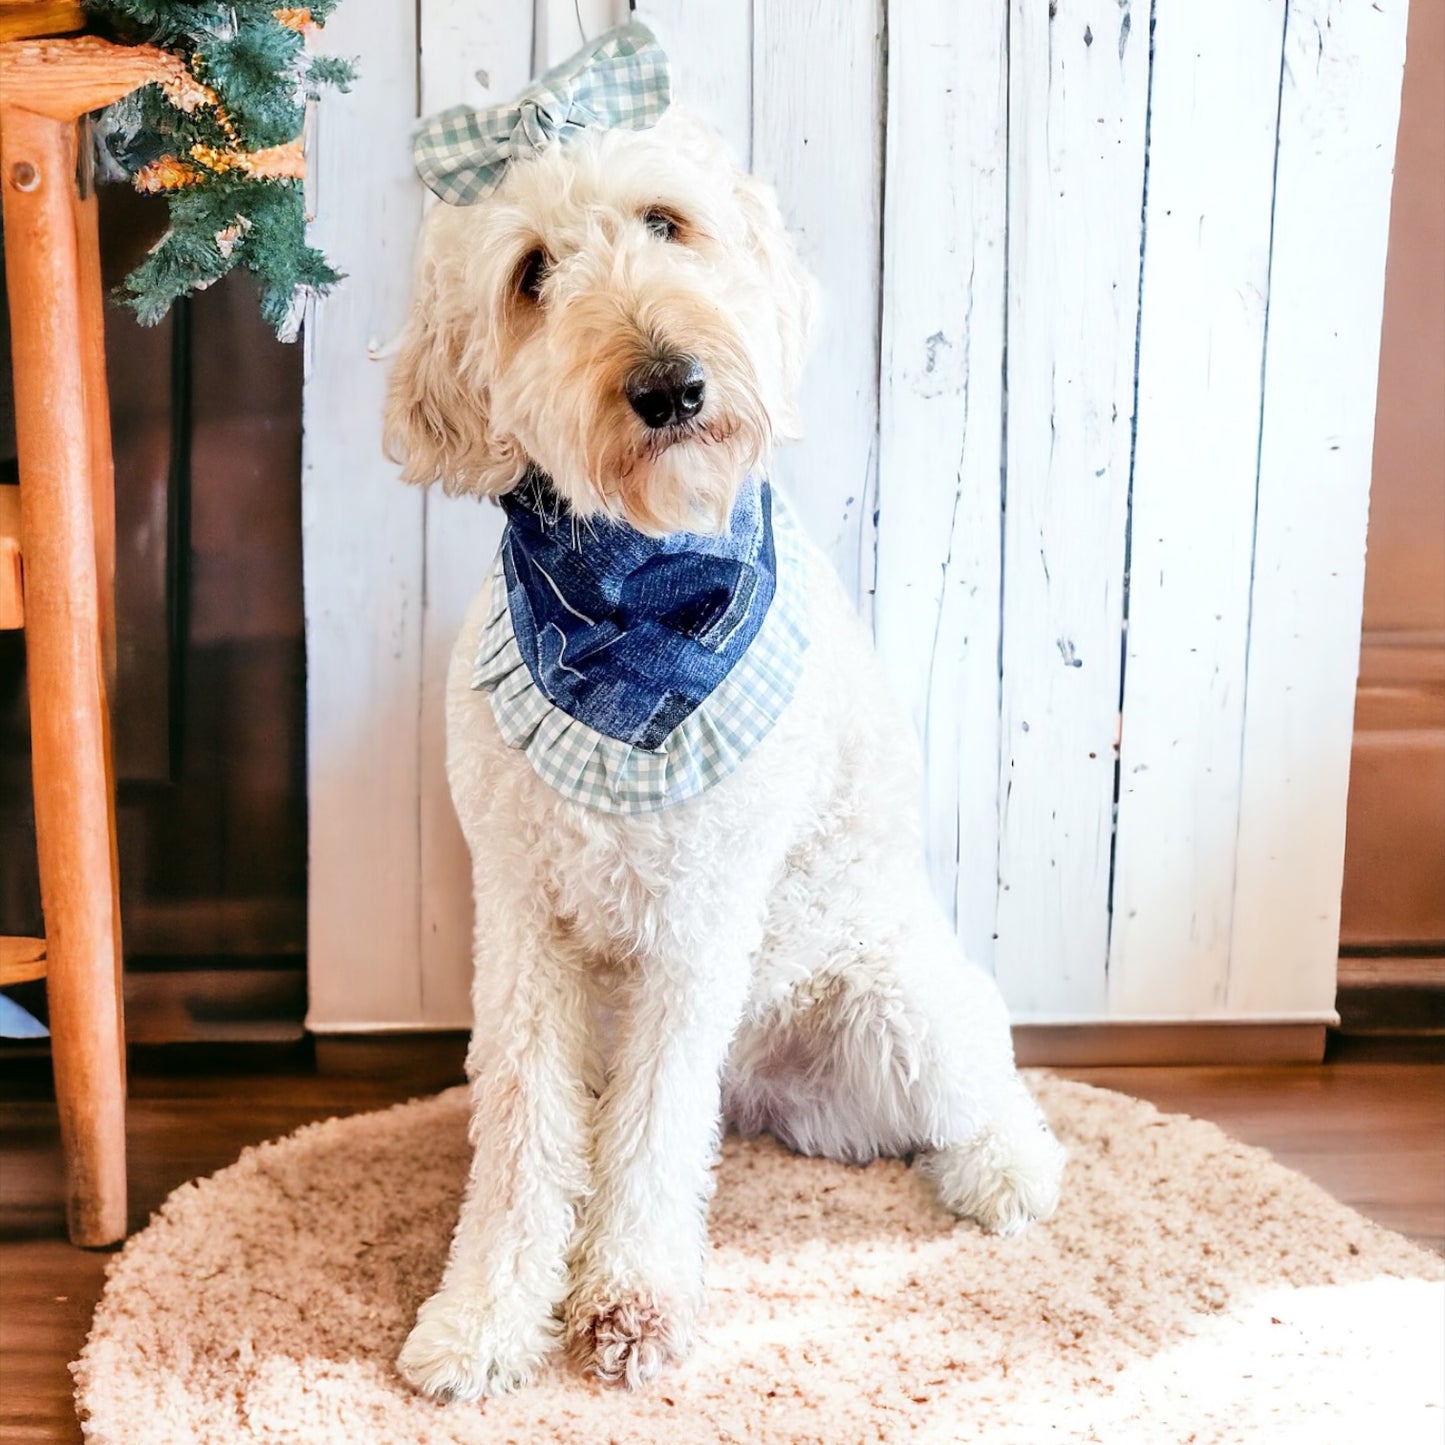
[[435, 224], [444, 211], [438, 207], [422, 233], [412, 315], [387, 384], [383, 444], [406, 481], [494, 497], [517, 483], [526, 458], [488, 420], [487, 383], [475, 367], [481, 348], [468, 345], [477, 308], [465, 305], [460, 253]]

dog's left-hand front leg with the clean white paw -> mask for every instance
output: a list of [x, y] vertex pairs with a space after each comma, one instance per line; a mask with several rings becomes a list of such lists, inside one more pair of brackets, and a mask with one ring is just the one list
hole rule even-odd
[[436, 1399], [499, 1394], [536, 1373], [556, 1344], [587, 1189], [587, 994], [566, 939], [526, 915], [478, 925], [471, 1175], [441, 1289], [397, 1358]]

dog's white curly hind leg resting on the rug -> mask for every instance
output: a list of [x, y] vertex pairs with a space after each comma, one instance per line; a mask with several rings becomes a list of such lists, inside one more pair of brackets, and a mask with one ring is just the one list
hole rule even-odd
[[916, 1155], [945, 1208], [1013, 1234], [1058, 1202], [1064, 1150], [1013, 1064], [1003, 1000], [931, 897], [744, 1022], [724, 1101], [743, 1131], [866, 1162]]

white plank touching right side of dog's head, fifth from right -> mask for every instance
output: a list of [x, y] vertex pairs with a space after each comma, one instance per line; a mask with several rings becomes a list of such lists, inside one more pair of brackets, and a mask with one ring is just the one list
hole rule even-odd
[[876, 3], [753, 9], [753, 168], [777, 186], [824, 295], [802, 386], [808, 435], [782, 452], [777, 475], [864, 614], [876, 535], [881, 29]]

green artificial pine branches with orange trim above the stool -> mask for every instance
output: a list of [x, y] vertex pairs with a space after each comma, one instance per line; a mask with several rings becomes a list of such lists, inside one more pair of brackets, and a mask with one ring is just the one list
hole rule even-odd
[[146, 85], [101, 121], [103, 162], [169, 204], [169, 227], [126, 277], [123, 299], [152, 325], [178, 296], [243, 266], [262, 315], [290, 340], [306, 296], [340, 279], [306, 243], [301, 147], [306, 103], [353, 78], [348, 62], [306, 53], [306, 33], [337, 0], [84, 3], [92, 29], [171, 51], [186, 68], [185, 79]]

